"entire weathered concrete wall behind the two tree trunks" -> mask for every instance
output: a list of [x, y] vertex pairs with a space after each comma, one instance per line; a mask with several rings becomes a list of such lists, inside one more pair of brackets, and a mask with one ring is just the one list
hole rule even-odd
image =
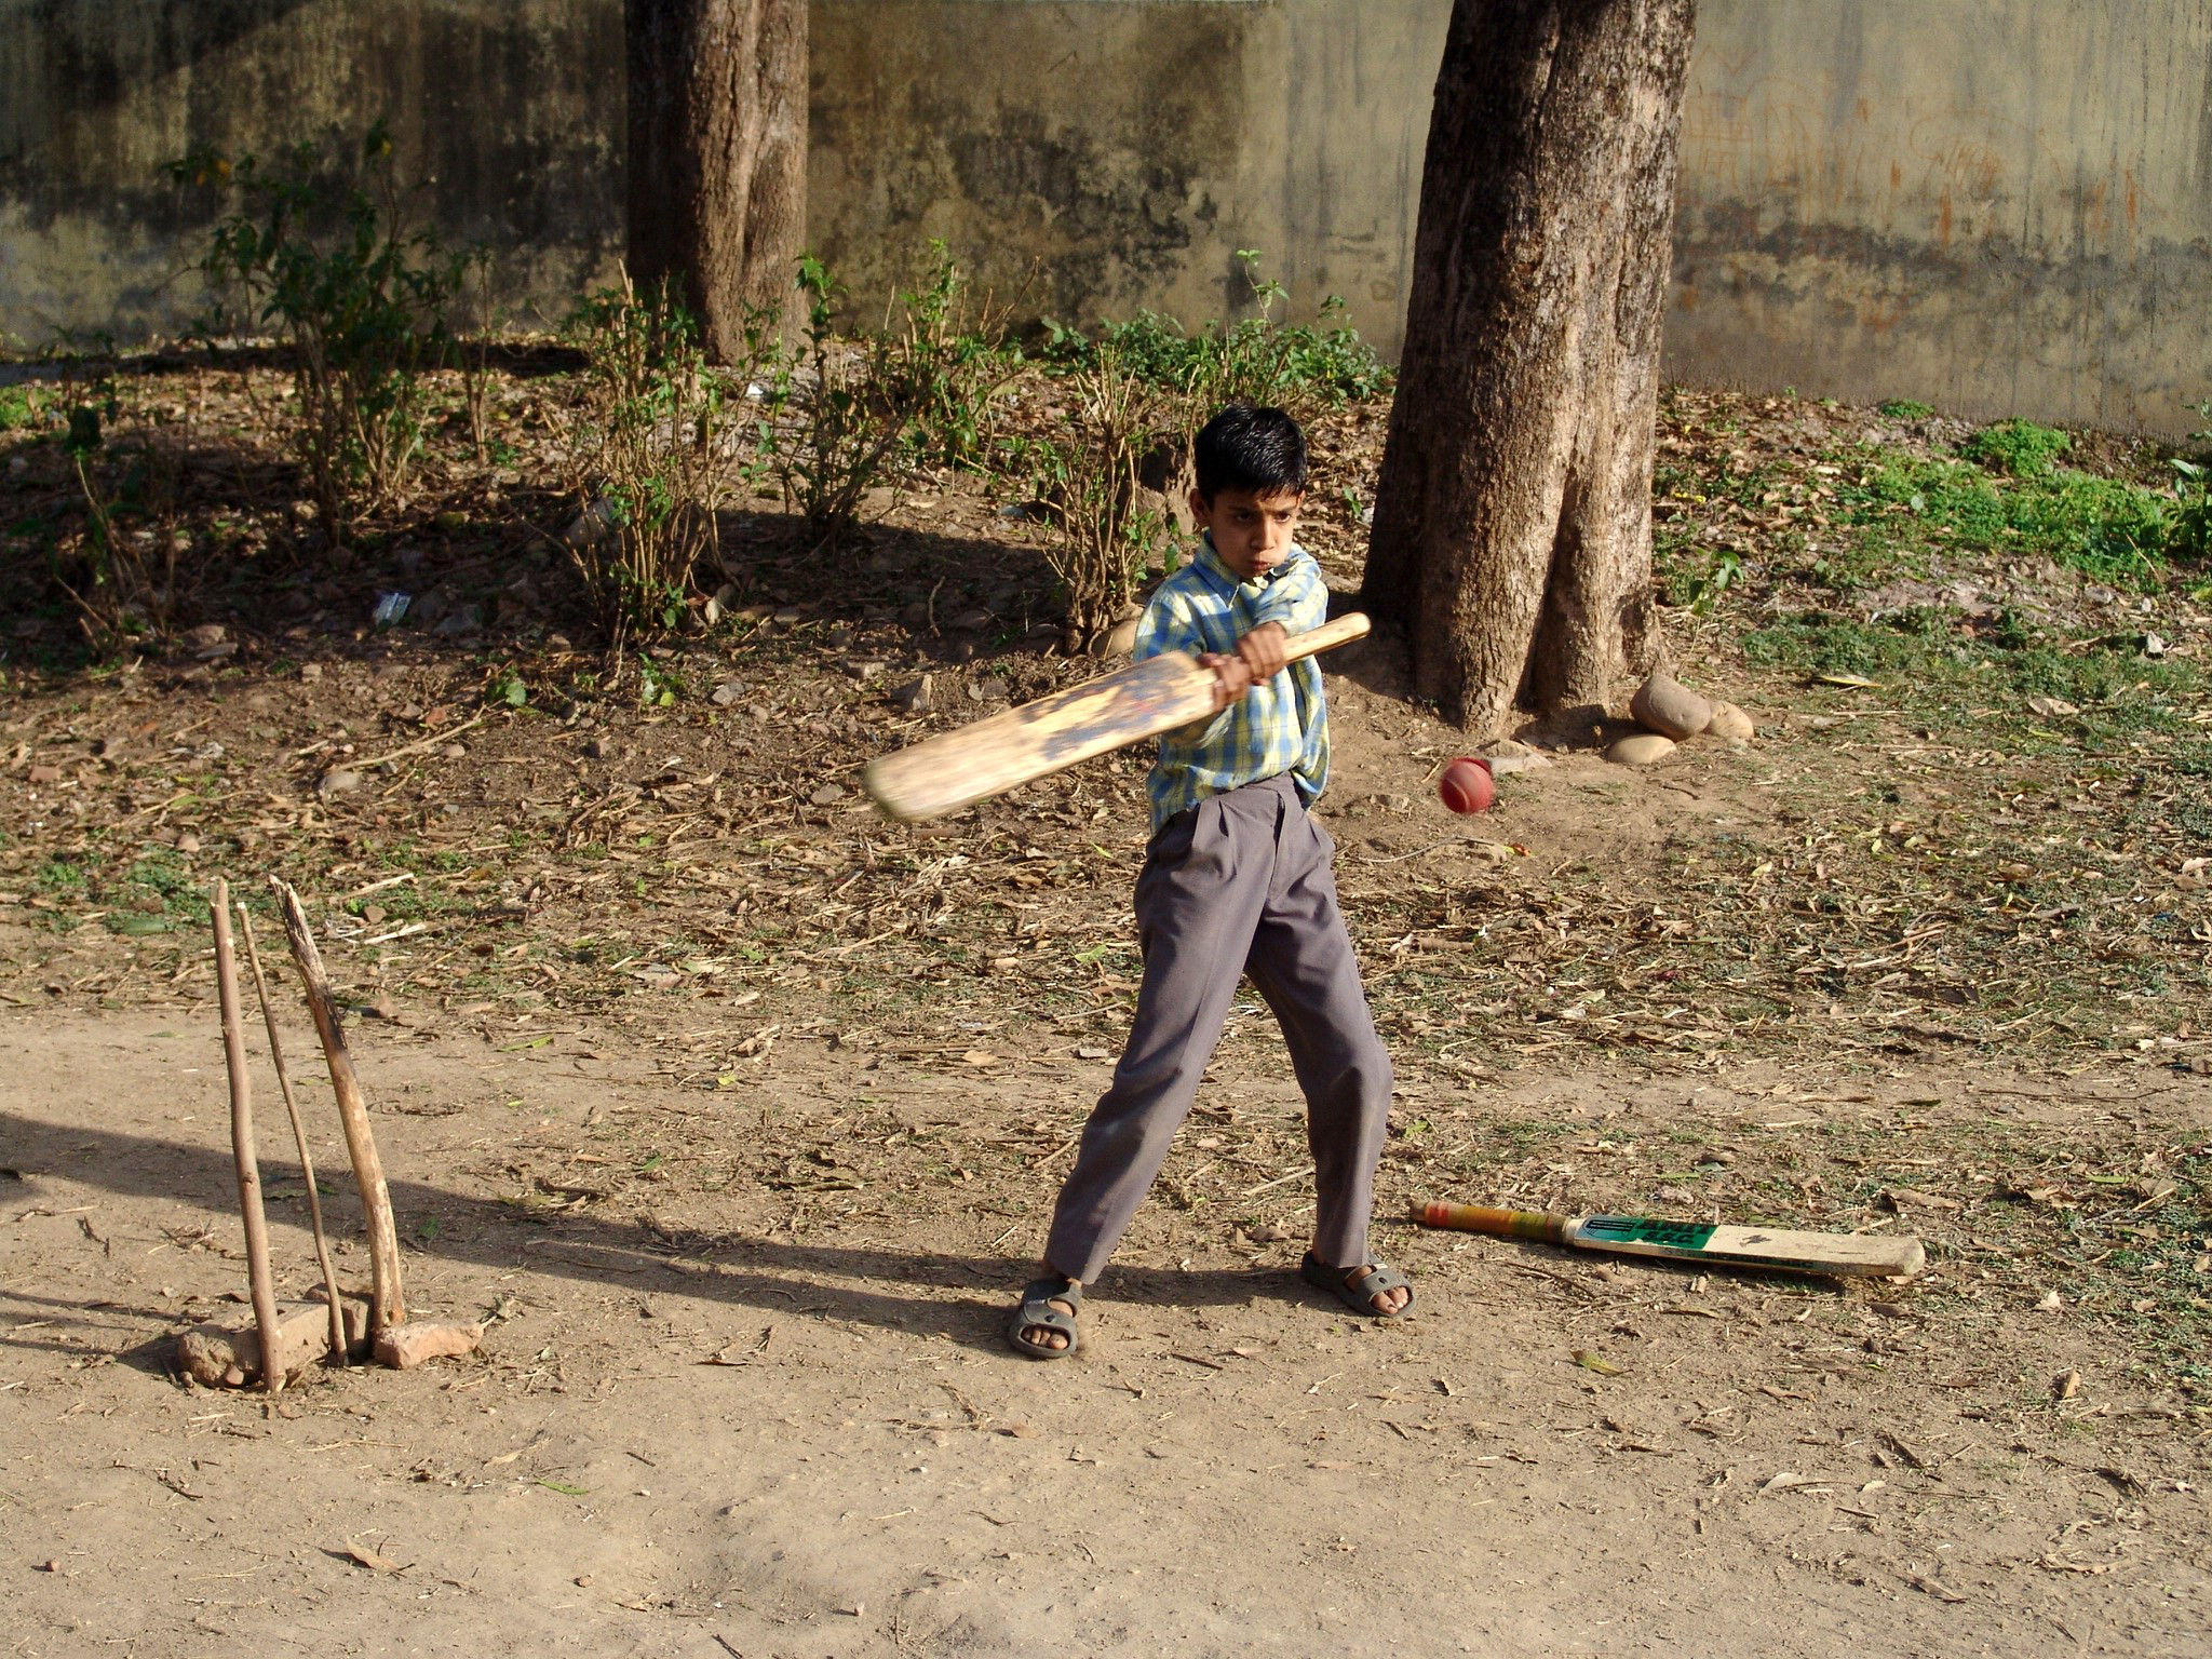
[[[1243, 301], [1396, 347], [1449, 0], [814, 0], [814, 241], [1029, 314]], [[2208, 0], [1703, 0], [1668, 372], [2183, 431], [2212, 394]], [[173, 332], [157, 164], [387, 115], [557, 316], [622, 246], [619, 0], [0, 0], [0, 330]]]

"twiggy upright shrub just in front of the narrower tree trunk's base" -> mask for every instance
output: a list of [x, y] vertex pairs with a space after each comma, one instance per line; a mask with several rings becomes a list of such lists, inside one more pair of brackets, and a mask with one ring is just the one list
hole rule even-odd
[[619, 648], [681, 624], [699, 562], [717, 551], [723, 389], [666, 285], [639, 299], [624, 276], [584, 301], [568, 334], [588, 363], [568, 431], [582, 504], [568, 551]]

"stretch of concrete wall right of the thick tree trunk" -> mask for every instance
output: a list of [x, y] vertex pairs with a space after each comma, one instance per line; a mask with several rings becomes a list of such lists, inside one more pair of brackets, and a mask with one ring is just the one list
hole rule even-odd
[[1672, 374], [2205, 425], [2212, 4], [1699, 9]]

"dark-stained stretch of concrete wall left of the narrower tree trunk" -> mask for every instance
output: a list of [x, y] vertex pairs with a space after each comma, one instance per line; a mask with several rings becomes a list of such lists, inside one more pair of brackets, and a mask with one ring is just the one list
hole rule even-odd
[[387, 117], [396, 175], [551, 305], [622, 250], [622, 0], [0, 0], [0, 336], [175, 334], [206, 215], [161, 161]]

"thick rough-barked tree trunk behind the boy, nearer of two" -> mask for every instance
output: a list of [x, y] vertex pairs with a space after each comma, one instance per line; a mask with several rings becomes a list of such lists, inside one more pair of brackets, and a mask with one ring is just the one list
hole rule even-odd
[[1659, 325], [1694, 0], [1458, 0], [1363, 604], [1484, 737], [1661, 650]]

